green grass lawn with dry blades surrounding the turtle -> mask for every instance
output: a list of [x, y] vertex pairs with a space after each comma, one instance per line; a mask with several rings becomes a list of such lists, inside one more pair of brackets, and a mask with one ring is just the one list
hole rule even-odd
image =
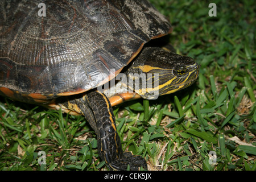
[[[200, 64], [196, 84], [156, 101], [114, 107], [123, 148], [150, 170], [256, 169], [254, 1], [151, 1], [174, 27], [181, 55]], [[106, 170], [83, 117], [1, 98], [0, 169]], [[46, 164], [39, 165], [39, 151]], [[209, 163], [209, 152], [217, 161]]]

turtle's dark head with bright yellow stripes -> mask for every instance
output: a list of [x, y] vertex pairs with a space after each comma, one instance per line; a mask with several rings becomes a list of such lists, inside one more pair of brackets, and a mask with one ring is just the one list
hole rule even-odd
[[[126, 71], [126, 86], [146, 99], [174, 93], [196, 81], [199, 65], [191, 57], [159, 47], [144, 48]], [[132, 84], [131, 84], [132, 82]]]

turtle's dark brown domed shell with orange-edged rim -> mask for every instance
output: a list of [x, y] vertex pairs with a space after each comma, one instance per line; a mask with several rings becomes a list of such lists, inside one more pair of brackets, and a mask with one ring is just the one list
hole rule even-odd
[[41, 2], [0, 2], [0, 90], [7, 96], [12, 90], [44, 99], [96, 88], [144, 43], [171, 32], [146, 0]]

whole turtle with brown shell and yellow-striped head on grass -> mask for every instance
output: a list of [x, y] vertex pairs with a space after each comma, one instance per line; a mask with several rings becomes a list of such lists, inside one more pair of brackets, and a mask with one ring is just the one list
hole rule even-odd
[[147, 0], [15, 0], [0, 10], [0, 95], [84, 115], [109, 169], [147, 169], [122, 150], [112, 107], [196, 81], [192, 57], [147, 46], [172, 32], [168, 19]]

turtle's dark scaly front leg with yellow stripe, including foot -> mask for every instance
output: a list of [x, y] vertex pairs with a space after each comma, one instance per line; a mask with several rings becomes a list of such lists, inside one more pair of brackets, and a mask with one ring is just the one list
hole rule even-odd
[[123, 153], [113, 109], [105, 94], [92, 91], [80, 98], [69, 98], [62, 105], [85, 116], [96, 131], [100, 157], [110, 169], [126, 170], [128, 164], [130, 170], [138, 170], [140, 167], [147, 169], [146, 161], [141, 156], [133, 156], [130, 152]]

